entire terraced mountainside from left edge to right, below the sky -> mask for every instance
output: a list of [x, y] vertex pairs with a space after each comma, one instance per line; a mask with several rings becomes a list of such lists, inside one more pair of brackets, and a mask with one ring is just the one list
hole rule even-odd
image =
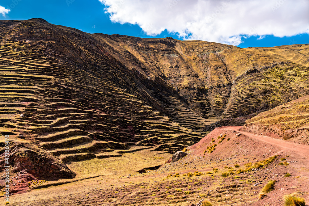
[[12, 172], [57, 179], [160, 165], [206, 125], [308, 95], [308, 51], [0, 21], [0, 130]]

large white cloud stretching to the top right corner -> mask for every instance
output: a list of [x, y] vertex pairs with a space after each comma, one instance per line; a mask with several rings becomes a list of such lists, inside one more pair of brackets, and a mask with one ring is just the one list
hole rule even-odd
[[239, 45], [241, 37], [309, 33], [308, 0], [99, 0], [113, 22], [186, 40]]

